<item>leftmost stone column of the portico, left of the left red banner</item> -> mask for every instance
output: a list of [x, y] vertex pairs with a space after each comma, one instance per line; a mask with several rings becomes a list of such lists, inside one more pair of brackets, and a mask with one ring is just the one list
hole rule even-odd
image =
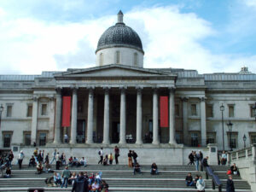
[[54, 143], [61, 143], [61, 89], [56, 89], [55, 108], [55, 140]]

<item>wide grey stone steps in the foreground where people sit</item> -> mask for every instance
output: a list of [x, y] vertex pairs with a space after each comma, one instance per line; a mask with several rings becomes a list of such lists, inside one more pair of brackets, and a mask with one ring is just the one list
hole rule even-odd
[[[61, 169], [64, 167], [62, 166]], [[218, 191], [212, 189], [212, 177], [206, 179], [206, 172], [195, 172], [195, 166], [158, 166], [159, 175], [150, 175], [150, 166], [142, 166], [142, 174], [133, 175], [132, 168], [124, 165], [98, 166], [89, 165], [87, 167], [69, 167], [71, 172], [102, 172], [102, 179], [105, 179], [109, 185], [109, 190], [113, 192], [119, 191], [196, 191], [195, 187], [187, 187], [185, 177], [188, 172], [192, 176], [201, 175], [206, 182], [206, 191]], [[225, 191], [226, 171], [228, 166], [212, 166], [214, 173], [220, 178]], [[62, 170], [56, 171], [61, 173]], [[47, 187], [44, 183], [46, 177], [53, 176], [53, 173], [36, 174], [34, 167], [23, 166], [19, 170], [17, 166], [13, 166], [11, 178], [0, 178], [0, 191], [27, 191], [27, 189], [44, 189], [44, 191], [71, 191], [71, 186], [67, 189], [58, 187]], [[250, 185], [241, 177], [233, 177], [236, 191], [251, 192]]]

